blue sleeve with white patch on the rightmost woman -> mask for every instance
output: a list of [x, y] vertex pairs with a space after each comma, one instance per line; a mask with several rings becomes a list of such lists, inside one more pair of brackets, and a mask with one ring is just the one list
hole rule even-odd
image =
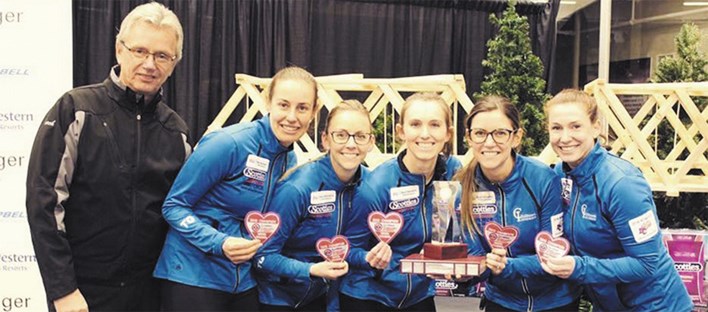
[[[641, 176], [624, 176], [608, 197], [607, 212], [626, 255], [614, 259], [576, 256], [571, 280], [630, 283], [653, 275], [658, 267], [662, 242], [649, 185]], [[638, 221], [646, 226], [639, 229]]]

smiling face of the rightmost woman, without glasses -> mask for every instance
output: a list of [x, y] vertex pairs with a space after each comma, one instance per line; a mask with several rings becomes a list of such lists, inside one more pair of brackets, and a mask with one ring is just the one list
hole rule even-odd
[[571, 168], [587, 157], [600, 135], [599, 121], [592, 122], [585, 107], [576, 102], [546, 108], [548, 136], [553, 150]]

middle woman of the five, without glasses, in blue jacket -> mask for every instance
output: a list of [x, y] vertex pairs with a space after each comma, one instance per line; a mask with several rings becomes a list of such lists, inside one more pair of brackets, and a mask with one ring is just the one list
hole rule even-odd
[[[356, 216], [345, 231], [353, 248], [350, 272], [340, 289], [343, 311], [435, 310], [433, 280], [402, 274], [399, 266], [402, 258], [430, 242], [431, 182], [450, 180], [460, 167], [457, 159], [441, 154], [453, 131], [450, 107], [439, 95], [417, 93], [406, 99], [396, 125], [406, 149], [376, 167], [362, 184], [354, 201]], [[403, 228], [388, 245], [378, 243], [369, 231], [372, 211], [403, 215]]]

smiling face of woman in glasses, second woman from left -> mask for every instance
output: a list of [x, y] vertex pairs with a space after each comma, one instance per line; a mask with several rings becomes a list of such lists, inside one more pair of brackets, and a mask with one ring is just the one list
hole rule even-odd
[[[328, 123], [328, 128], [322, 133], [322, 145], [326, 150], [329, 150], [332, 167], [339, 180], [348, 182], [373, 147], [371, 122], [368, 115], [362, 112], [344, 110], [334, 115]], [[336, 135], [347, 135], [347, 141], [345, 143], [335, 142], [333, 136]], [[365, 136], [370, 136], [370, 138], [365, 144], [357, 144], [355, 142], [357, 135], [360, 137], [358, 140], [362, 140]]]

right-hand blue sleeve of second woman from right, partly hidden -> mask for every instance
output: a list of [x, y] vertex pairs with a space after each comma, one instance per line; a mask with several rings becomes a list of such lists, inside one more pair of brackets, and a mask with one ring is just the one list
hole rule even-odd
[[[560, 177], [552, 172], [549, 172], [549, 176], [548, 183], [539, 192], [541, 194], [541, 198], [539, 198], [541, 204], [541, 229], [548, 233], [561, 234], [562, 232], [554, 232], [551, 225], [551, 217], [563, 212]], [[560, 219], [563, 219], [562, 215]], [[534, 237], [536, 234], [538, 233], [526, 233], [526, 235], [533, 235]], [[536, 254], [507, 258], [507, 260], [507, 265], [501, 273], [504, 278], [550, 276], [541, 268], [541, 262]]]

